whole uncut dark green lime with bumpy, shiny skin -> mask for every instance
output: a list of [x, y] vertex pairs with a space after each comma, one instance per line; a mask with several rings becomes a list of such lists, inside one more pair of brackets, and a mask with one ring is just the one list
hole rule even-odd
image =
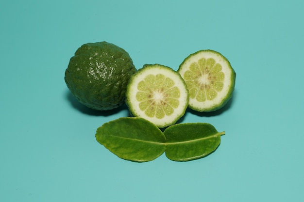
[[87, 43], [71, 57], [65, 82], [73, 96], [91, 109], [109, 110], [125, 103], [129, 78], [136, 72], [129, 54], [107, 42]]

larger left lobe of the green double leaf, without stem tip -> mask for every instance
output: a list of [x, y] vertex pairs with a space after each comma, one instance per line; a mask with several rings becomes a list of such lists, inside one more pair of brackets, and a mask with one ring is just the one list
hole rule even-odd
[[103, 124], [96, 140], [113, 154], [125, 160], [151, 161], [166, 149], [166, 138], [151, 122], [138, 117], [122, 117]]

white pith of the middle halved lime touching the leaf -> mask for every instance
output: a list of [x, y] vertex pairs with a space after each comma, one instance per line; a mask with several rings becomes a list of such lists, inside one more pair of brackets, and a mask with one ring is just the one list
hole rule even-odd
[[[174, 112], [170, 115], [166, 115], [164, 118], [156, 118], [156, 117], [149, 117], [145, 114], [145, 111], [142, 111], [139, 109], [139, 101], [136, 99], [136, 93], [138, 92], [137, 86], [138, 83], [142, 80], [144, 80], [148, 75], [158, 75], [162, 74], [167, 78], [171, 78], [175, 85], [180, 90], [180, 97], [179, 100], [179, 106], [178, 108], [174, 108]], [[132, 110], [132, 113], [134, 116], [142, 117], [153, 124], [157, 125], [158, 127], [165, 127], [170, 124], [174, 124], [174, 122], [177, 121], [178, 118], [180, 118], [184, 113], [188, 105], [188, 91], [186, 89], [186, 84], [183, 81], [182, 78], [178, 76], [178, 73], [174, 72], [174, 70], [171, 70], [169, 68], [164, 68], [163, 66], [157, 66], [153, 65], [152, 68], [145, 68], [144, 70], [138, 72], [136, 75], [133, 76], [133, 78], [130, 81], [131, 83], [128, 85], [128, 91], [127, 91], [127, 100], [129, 108]], [[130, 88], [132, 86], [132, 88]], [[162, 93], [156, 92], [154, 93], [155, 100], [161, 100], [163, 97]]]

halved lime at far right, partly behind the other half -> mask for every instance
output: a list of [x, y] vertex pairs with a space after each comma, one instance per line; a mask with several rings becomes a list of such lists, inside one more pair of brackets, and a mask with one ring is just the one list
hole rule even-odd
[[232, 97], [236, 72], [219, 52], [197, 51], [182, 62], [178, 72], [189, 90], [190, 109], [215, 111]]

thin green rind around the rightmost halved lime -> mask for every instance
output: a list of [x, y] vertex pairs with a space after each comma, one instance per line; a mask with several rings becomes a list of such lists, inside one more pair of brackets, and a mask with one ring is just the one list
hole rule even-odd
[[[227, 95], [221, 100], [220, 103], [218, 103], [218, 104], [214, 105], [212, 108], [208, 108], [208, 109], [207, 109], [207, 108], [199, 109], [199, 108], [197, 108], [196, 106], [192, 106], [190, 103], [189, 103], [189, 105], [188, 105], [188, 108], [193, 109], [193, 110], [195, 110], [195, 111], [199, 111], [199, 112], [211, 112], [211, 111], [216, 111], [216, 110], [218, 110], [218, 109], [224, 107], [224, 106], [227, 104], [227, 102], [232, 98], [232, 95], [233, 95], [234, 90], [235, 90], [235, 85], [236, 85], [236, 72], [235, 72], [235, 70], [232, 68], [231, 63], [228, 61], [228, 59], [227, 59], [226, 57], [224, 57], [220, 52], [217, 52], [217, 51], [214, 51], [214, 50], [210, 50], [210, 49], [207, 49], [207, 50], [199, 50], [199, 51], [197, 51], [197, 52], [195, 52], [195, 53], [190, 54], [190, 55], [189, 55], [188, 57], [186, 57], [186, 58], [184, 59], [184, 61], [180, 64], [180, 66], [179, 66], [177, 72], [180, 72], [182, 66], [184, 65], [184, 63], [185, 63], [189, 58], [191, 58], [192, 56], [195, 56], [196, 54], [198, 54], [198, 53], [200, 53], [200, 52], [202, 52], [202, 51], [204, 51], [204, 52], [209, 51], [209, 52], [213, 52], [213, 53], [216, 53], [216, 54], [220, 55], [224, 60], [226, 60], [226, 62], [228, 63], [228, 66], [229, 66], [229, 68], [230, 68], [230, 70], [231, 70], [231, 72], [232, 72], [231, 77], [230, 77], [230, 79], [231, 79], [231, 81], [232, 81], [231, 86], [230, 86], [230, 89], [229, 89]], [[182, 77], [183, 77], [183, 76], [182, 76]]]

